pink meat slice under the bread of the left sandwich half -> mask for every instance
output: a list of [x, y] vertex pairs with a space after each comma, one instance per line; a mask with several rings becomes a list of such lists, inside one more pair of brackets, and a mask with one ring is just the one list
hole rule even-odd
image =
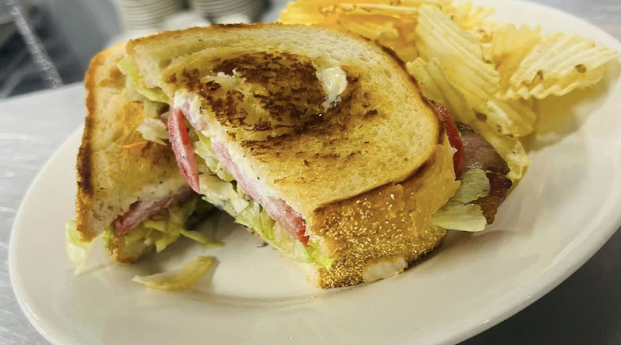
[[168, 206], [183, 202], [194, 195], [190, 186], [184, 186], [175, 193], [166, 195], [165, 197], [153, 198], [148, 200], [139, 200], [130, 206], [130, 209], [124, 215], [120, 215], [115, 219], [115, 235], [122, 236], [129, 233], [132, 228], [146, 221], [150, 217], [157, 215], [159, 211], [168, 208]]

